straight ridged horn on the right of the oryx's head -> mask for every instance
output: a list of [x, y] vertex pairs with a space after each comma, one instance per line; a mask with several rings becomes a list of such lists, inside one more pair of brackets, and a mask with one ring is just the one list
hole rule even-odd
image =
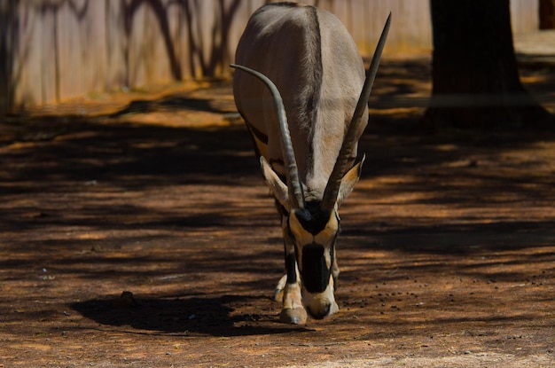
[[353, 151], [353, 147], [356, 145], [358, 130], [360, 129], [360, 124], [363, 120], [363, 114], [368, 114], [368, 99], [370, 98], [370, 92], [372, 85], [374, 84], [374, 79], [376, 79], [376, 74], [378, 73], [379, 60], [381, 59], [381, 53], [384, 50], [384, 45], [386, 44], [390, 23], [391, 12], [387, 17], [386, 25], [379, 36], [379, 42], [376, 46], [376, 51], [374, 51], [374, 55], [372, 56], [370, 67], [368, 68], [366, 79], [364, 81], [363, 90], [358, 98], [355, 113], [353, 114], [353, 118], [348, 125], [347, 133], [345, 134], [340, 153], [337, 156], [335, 165], [333, 166], [332, 174], [330, 175], [328, 183], [325, 186], [324, 197], [321, 204], [321, 208], [324, 211], [331, 212], [333, 207], [335, 207], [335, 202], [340, 192], [341, 179], [345, 175], [345, 171], [347, 169], [348, 157]]

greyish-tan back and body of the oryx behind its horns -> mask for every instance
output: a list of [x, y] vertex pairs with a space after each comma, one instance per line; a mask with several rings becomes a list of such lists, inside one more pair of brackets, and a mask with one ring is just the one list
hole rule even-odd
[[[277, 85], [301, 180], [323, 191], [363, 86], [362, 58], [347, 29], [331, 13], [312, 6], [269, 4], [249, 20], [236, 63], [265, 74]], [[235, 73], [233, 83], [238, 110], [259, 154], [285, 174], [270, 92], [241, 72]]]

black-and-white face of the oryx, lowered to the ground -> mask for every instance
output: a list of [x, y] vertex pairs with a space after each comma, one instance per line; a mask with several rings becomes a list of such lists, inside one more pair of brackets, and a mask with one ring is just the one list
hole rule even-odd
[[327, 317], [339, 309], [332, 278], [339, 216], [335, 211], [325, 214], [317, 209], [296, 209], [287, 224], [301, 273], [303, 304], [312, 317]]

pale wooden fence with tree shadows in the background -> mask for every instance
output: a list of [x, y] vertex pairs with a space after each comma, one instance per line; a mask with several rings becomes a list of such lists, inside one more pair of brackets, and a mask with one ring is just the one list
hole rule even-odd
[[[538, 0], [512, 0], [514, 32]], [[88, 93], [230, 74], [265, 0], [0, 0], [0, 114]], [[386, 54], [430, 51], [428, 0], [305, 0], [337, 14], [368, 54], [393, 12]]]

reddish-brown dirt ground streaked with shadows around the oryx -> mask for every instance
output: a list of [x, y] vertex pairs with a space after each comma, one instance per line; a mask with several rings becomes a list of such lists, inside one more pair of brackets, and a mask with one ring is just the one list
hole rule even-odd
[[[554, 74], [523, 70], [551, 111]], [[0, 367], [555, 367], [555, 136], [420, 133], [428, 75], [382, 64], [340, 312], [301, 326], [229, 82], [6, 119]]]

